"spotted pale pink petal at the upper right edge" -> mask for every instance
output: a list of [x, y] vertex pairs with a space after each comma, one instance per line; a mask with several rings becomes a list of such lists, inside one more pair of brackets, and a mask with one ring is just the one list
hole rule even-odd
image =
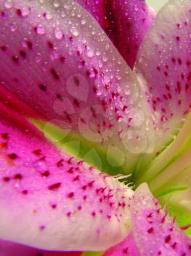
[[[191, 107], [191, 1], [169, 1], [141, 45], [136, 70], [151, 94], [164, 140]], [[163, 139], [162, 139], [163, 140]]]

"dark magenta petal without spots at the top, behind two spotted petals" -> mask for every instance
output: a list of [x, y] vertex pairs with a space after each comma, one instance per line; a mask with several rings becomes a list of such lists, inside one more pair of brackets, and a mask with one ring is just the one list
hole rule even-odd
[[142, 0], [76, 0], [98, 21], [133, 68], [141, 42], [155, 13]]

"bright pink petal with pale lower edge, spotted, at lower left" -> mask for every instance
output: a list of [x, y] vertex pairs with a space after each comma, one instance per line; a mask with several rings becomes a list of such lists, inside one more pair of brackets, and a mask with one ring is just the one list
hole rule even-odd
[[128, 235], [131, 190], [50, 146], [0, 104], [0, 238], [104, 250]]

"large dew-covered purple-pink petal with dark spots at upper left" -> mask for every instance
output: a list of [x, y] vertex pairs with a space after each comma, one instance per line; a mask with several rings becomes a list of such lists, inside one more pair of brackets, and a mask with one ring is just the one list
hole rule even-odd
[[109, 154], [122, 151], [130, 173], [155, 144], [151, 113], [101, 27], [74, 1], [1, 1], [0, 10], [1, 86]]

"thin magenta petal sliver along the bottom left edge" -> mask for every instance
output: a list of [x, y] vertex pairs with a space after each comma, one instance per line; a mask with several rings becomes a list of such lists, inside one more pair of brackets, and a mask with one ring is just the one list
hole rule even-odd
[[81, 252], [49, 252], [9, 241], [0, 241], [1, 256], [80, 256], [81, 254]]

